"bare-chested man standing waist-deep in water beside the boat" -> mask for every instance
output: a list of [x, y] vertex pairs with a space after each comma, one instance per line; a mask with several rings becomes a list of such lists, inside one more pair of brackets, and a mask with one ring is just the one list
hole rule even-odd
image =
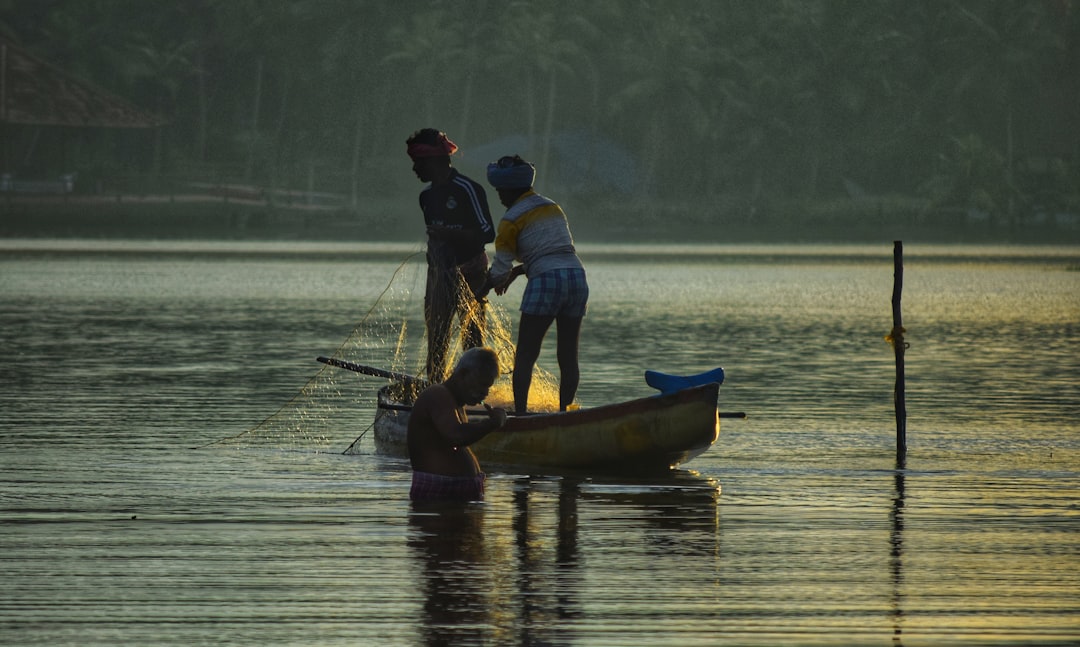
[[420, 393], [408, 419], [408, 456], [414, 501], [475, 501], [484, 498], [484, 472], [469, 448], [507, 423], [507, 412], [488, 407], [475, 422], [467, 404], [480, 404], [499, 377], [499, 358], [489, 348], [461, 354], [446, 381]]

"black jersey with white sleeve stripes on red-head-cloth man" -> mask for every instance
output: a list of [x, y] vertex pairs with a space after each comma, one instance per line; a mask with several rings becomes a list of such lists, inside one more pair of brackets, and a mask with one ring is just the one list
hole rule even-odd
[[429, 239], [429, 250], [435, 245], [441, 247], [438, 254], [429, 255], [429, 258], [446, 258], [460, 265], [474, 258], [484, 251], [484, 245], [495, 240], [495, 225], [484, 187], [458, 173], [457, 169], [450, 169], [447, 181], [431, 185], [420, 192], [420, 208], [424, 224], [471, 234], [455, 237], [453, 241]]

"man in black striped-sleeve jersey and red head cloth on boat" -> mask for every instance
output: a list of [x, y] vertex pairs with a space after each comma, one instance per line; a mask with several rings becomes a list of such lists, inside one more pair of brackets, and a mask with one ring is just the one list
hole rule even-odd
[[455, 318], [464, 327], [464, 348], [484, 342], [485, 301], [476, 292], [487, 277], [484, 245], [495, 240], [495, 226], [484, 188], [450, 165], [458, 147], [435, 129], [413, 133], [406, 140], [413, 172], [430, 183], [420, 192], [428, 228], [428, 286], [423, 299], [428, 333], [427, 377], [446, 374]]

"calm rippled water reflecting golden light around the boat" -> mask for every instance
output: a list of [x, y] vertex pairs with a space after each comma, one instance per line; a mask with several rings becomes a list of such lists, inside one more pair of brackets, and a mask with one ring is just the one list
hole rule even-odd
[[907, 245], [897, 470], [891, 242], [586, 247], [582, 405], [724, 366], [750, 418], [671, 478], [438, 514], [341, 454], [379, 380], [249, 431], [415, 251], [0, 241], [0, 643], [1080, 642], [1080, 250]]

